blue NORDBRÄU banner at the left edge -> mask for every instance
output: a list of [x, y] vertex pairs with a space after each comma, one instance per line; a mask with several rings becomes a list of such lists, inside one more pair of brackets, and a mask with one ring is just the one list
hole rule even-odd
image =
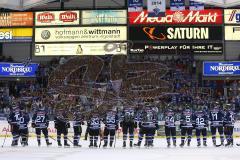
[[0, 63], [0, 77], [36, 77], [37, 63]]

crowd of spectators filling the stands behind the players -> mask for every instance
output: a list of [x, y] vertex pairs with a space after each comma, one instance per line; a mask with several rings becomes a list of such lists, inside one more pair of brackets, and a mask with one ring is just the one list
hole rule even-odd
[[8, 114], [12, 101], [31, 112], [39, 98], [50, 114], [60, 108], [71, 111], [77, 107], [89, 113], [112, 106], [138, 110], [150, 105], [161, 119], [169, 106], [180, 113], [186, 105], [208, 110], [216, 101], [223, 107], [230, 103], [239, 112], [239, 82], [231, 83], [232, 95], [226, 97], [217, 92], [215, 81], [201, 79], [199, 68], [201, 62], [191, 57], [61, 57], [40, 65], [36, 80], [16, 82], [14, 87], [2, 85], [0, 112]]

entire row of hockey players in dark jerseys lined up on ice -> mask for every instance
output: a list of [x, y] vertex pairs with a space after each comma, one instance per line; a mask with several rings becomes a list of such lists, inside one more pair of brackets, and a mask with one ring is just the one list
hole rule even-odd
[[[58, 146], [62, 146], [61, 135], [64, 137], [64, 146], [69, 147], [69, 142], [74, 147], [81, 147], [79, 145], [82, 125], [84, 121], [87, 121], [87, 130], [85, 139], [89, 134], [90, 145], [89, 147], [100, 147], [103, 140], [103, 147], [115, 146], [116, 142], [116, 130], [119, 126], [123, 131], [123, 147], [126, 147], [127, 138], [129, 137], [129, 146], [140, 147], [145, 136], [144, 146], [153, 147], [154, 136], [156, 130], [159, 129], [157, 114], [151, 108], [151, 106], [145, 106], [140, 112], [135, 112], [134, 108], [126, 107], [121, 113], [121, 117], [118, 117], [118, 113], [112, 109], [108, 110], [105, 115], [99, 115], [98, 113], [92, 113], [88, 119], [84, 119], [81, 112], [76, 108], [73, 113], [73, 130], [74, 138], [73, 142], [68, 138], [68, 129], [70, 128], [70, 122], [67, 113], [64, 110], [59, 110], [56, 114], [54, 123], [57, 130], [57, 140], [48, 136], [49, 117], [46, 108], [43, 105], [39, 105], [32, 117], [32, 127], [35, 128], [37, 135], [38, 146], [41, 146], [41, 132], [45, 136], [47, 146], [52, 143], [49, 142], [49, 138], [57, 141]], [[9, 115], [8, 122], [11, 126], [11, 132], [13, 136], [12, 146], [17, 146], [21, 137], [22, 146], [28, 145], [28, 123], [30, 122], [30, 116], [28, 113], [21, 110], [17, 105], [12, 106], [12, 111]], [[169, 106], [165, 112], [165, 134], [167, 140], [167, 146], [171, 146], [171, 139], [173, 146], [177, 146], [176, 138], [176, 116], [174, 111]], [[105, 128], [101, 130], [101, 123], [105, 124]], [[196, 130], [197, 146], [201, 146], [201, 137], [203, 139], [203, 145], [207, 146], [207, 128], [210, 125], [212, 142], [214, 146], [224, 145], [226, 140], [226, 146], [233, 145], [233, 129], [234, 129], [234, 110], [229, 105], [224, 110], [216, 103], [214, 107], [209, 111], [196, 110], [192, 111], [191, 108], [186, 107], [180, 118], [181, 129], [181, 143], [183, 147], [185, 144], [190, 146], [193, 130]], [[133, 144], [134, 129], [139, 128], [138, 142]], [[216, 132], [220, 135], [221, 144], [216, 144]], [[101, 138], [98, 144], [98, 139]], [[114, 142], [115, 140], [115, 142]]]

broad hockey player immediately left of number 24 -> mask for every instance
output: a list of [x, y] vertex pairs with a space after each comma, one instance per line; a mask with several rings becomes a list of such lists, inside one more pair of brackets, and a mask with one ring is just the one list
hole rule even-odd
[[140, 128], [140, 131], [139, 131], [138, 143], [136, 144], [136, 146], [138, 147], [141, 146], [141, 142], [145, 135], [146, 146], [152, 147], [155, 131], [158, 128], [158, 123], [157, 123], [157, 117], [151, 108], [146, 107], [145, 110], [142, 112], [139, 119], [139, 128]]

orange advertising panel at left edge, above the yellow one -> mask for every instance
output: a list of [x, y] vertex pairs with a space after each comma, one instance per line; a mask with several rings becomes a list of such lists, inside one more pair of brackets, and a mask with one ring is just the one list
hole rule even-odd
[[33, 26], [32, 12], [0, 12], [0, 27]]

